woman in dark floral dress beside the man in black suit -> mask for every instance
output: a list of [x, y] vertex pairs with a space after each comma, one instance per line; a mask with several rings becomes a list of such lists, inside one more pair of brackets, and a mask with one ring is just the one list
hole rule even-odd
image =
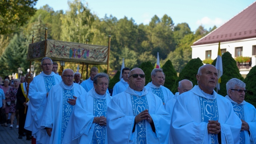
[[[19, 79], [15, 79], [13, 80], [14, 82], [14, 87], [10, 89], [10, 96], [9, 99], [11, 100], [11, 105], [10, 105], [10, 111], [9, 113], [12, 113], [11, 115], [11, 125], [10, 128], [13, 128], [13, 120], [15, 117], [15, 113], [16, 113], [16, 94], [19, 88]], [[18, 118], [17, 118], [17, 127], [18, 127], [19, 123], [18, 123]], [[16, 128], [17, 128], [16, 127]]]

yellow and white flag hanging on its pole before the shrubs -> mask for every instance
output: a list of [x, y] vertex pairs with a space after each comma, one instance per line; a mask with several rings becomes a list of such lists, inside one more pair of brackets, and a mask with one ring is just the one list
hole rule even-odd
[[221, 53], [221, 42], [219, 42], [219, 48], [218, 48], [218, 56], [216, 60], [216, 69], [218, 70], [218, 82], [216, 85], [216, 88], [219, 90], [220, 86], [219, 83], [221, 83], [221, 76], [223, 74], [223, 69], [222, 69], [222, 53]]

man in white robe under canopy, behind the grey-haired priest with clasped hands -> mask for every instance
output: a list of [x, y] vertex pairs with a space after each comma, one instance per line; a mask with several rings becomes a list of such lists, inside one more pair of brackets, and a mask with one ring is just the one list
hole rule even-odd
[[[94, 87], [93, 78], [96, 74], [98, 74], [98, 71], [99, 71], [98, 68], [92, 67], [90, 70], [90, 77], [80, 84], [86, 90], [86, 92], [88, 92], [89, 90], [91, 90]], [[106, 92], [109, 94], [108, 89]]]

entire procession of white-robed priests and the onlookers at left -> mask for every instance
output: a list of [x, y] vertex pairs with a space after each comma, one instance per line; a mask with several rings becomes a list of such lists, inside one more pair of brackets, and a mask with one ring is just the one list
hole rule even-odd
[[[1, 123], [32, 144], [256, 144], [256, 109], [244, 101], [245, 83], [232, 78], [227, 95], [214, 88], [218, 71], [211, 64], [198, 69], [198, 85], [182, 80], [175, 95], [164, 85], [162, 69], [153, 69], [145, 86], [140, 68], [124, 68], [113, 92], [109, 76], [91, 68], [88, 80], [51, 58], [41, 60], [42, 72], [27, 73], [21, 83], [0, 77]], [[111, 90], [112, 91], [112, 90]], [[25, 134], [25, 135], [24, 135]]]

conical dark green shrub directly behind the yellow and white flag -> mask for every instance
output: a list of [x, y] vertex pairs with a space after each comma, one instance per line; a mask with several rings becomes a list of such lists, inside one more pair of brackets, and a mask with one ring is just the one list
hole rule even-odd
[[[216, 65], [217, 58], [212, 62], [212, 65]], [[239, 72], [237, 67], [237, 62], [232, 58], [232, 55], [229, 52], [226, 52], [222, 55], [222, 67], [223, 67], [223, 75], [221, 76], [220, 90], [218, 90], [218, 94], [222, 96], [227, 95], [226, 83], [231, 78], [238, 78], [239, 80], [243, 80], [242, 75]], [[215, 88], [216, 90], [216, 88]]]

